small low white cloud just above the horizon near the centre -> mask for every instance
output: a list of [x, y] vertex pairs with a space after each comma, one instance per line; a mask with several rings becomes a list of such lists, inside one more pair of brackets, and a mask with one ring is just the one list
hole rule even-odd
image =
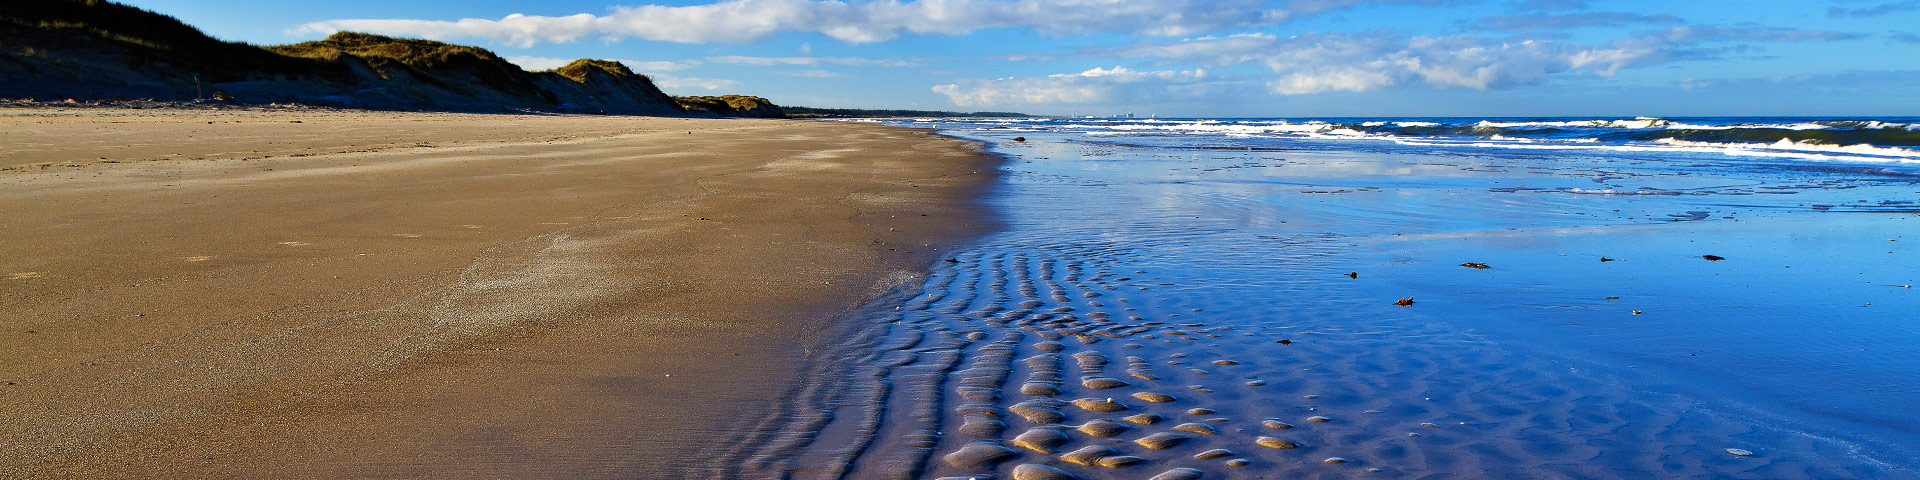
[[1202, 98], [1219, 90], [1206, 71], [1135, 71], [1127, 67], [1089, 69], [1025, 79], [935, 84], [956, 106], [1037, 106], [1037, 104], [1114, 104]]

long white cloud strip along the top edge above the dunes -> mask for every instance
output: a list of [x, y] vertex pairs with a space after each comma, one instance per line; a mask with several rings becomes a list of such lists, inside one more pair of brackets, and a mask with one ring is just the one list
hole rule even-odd
[[783, 31], [818, 33], [851, 44], [883, 42], [900, 35], [966, 35], [981, 29], [1183, 36], [1279, 25], [1365, 2], [1369, 0], [724, 0], [699, 6], [618, 6], [605, 15], [330, 19], [300, 25], [288, 33], [367, 31], [436, 40], [490, 38], [522, 48], [589, 36], [743, 44]]

